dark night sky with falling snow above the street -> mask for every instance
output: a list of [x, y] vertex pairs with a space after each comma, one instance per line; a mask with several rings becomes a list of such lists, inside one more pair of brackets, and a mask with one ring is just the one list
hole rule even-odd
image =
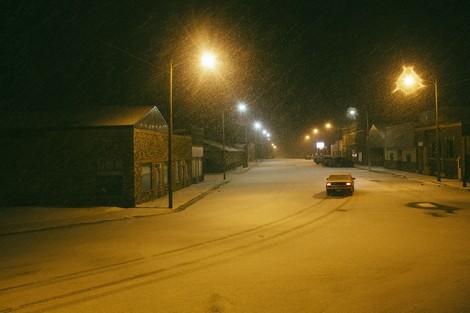
[[[326, 121], [391, 125], [443, 106], [469, 106], [468, 1], [3, 1], [4, 111], [156, 105], [168, 116], [174, 68], [175, 129], [220, 133], [250, 108], [284, 151]], [[217, 54], [215, 72], [198, 67]], [[429, 88], [392, 93], [402, 66]]]

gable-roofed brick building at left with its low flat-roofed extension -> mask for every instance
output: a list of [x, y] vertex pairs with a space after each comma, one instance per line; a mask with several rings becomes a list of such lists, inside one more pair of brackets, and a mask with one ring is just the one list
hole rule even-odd
[[[1, 205], [128, 207], [167, 193], [168, 128], [156, 107], [8, 112], [0, 119]], [[192, 183], [193, 152], [190, 136], [173, 138], [177, 190]]]

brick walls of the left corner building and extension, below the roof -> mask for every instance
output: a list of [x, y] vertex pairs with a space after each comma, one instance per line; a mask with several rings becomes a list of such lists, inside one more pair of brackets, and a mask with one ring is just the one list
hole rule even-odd
[[[1, 205], [128, 207], [166, 194], [165, 133], [133, 127], [23, 130], [3, 133], [0, 145]], [[191, 137], [173, 137], [172, 157], [183, 177], [173, 180], [177, 190], [191, 184]], [[147, 191], [143, 163], [152, 166], [154, 186]]]

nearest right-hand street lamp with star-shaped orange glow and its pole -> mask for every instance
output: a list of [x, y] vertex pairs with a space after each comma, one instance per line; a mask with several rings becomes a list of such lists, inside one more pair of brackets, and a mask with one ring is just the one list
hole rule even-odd
[[[395, 91], [402, 91], [405, 95], [426, 87], [423, 80], [413, 70], [412, 66], [403, 66], [403, 72], [398, 77]], [[437, 79], [434, 80], [434, 104], [436, 110], [436, 178], [441, 181], [441, 141], [439, 136], [439, 102], [437, 94]]]

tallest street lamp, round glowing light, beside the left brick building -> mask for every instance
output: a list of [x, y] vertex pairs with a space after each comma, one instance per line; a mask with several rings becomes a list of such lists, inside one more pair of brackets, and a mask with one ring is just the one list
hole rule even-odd
[[[170, 108], [168, 122], [168, 207], [173, 208], [173, 177], [172, 177], [172, 141], [173, 141], [173, 68], [181, 64], [173, 64], [170, 61]], [[213, 69], [216, 65], [216, 57], [212, 53], [204, 53], [201, 58], [201, 65], [205, 68]]]

